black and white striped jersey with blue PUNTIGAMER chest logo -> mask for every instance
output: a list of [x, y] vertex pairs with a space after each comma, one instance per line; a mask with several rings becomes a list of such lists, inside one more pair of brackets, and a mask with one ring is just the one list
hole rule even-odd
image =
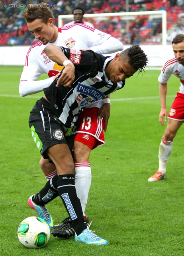
[[75, 66], [74, 82], [70, 88], [56, 87], [56, 79], [43, 90], [52, 112], [66, 127], [71, 127], [83, 108], [123, 88], [125, 80], [118, 83], [108, 80], [105, 68], [113, 60], [112, 57], [104, 57], [92, 50], [61, 48]]

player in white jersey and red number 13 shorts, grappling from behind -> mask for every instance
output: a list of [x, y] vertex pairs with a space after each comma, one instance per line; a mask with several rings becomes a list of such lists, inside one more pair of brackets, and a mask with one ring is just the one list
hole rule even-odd
[[[42, 4], [45, 3], [41, 3], [39, 6]], [[45, 6], [47, 5], [45, 4]], [[22, 97], [41, 92], [43, 91], [43, 88], [49, 87], [57, 74], [59, 74], [63, 69], [63, 67], [51, 61], [47, 57], [44, 52], [46, 44], [61, 45], [71, 49], [90, 48], [91, 50], [102, 54], [123, 50], [123, 44], [119, 40], [84, 24], [75, 24], [66, 28], [57, 28], [55, 26], [53, 14], [49, 8], [37, 8], [35, 5], [29, 5], [29, 8], [24, 11], [23, 16], [27, 22], [29, 30], [34, 34], [35, 38], [37, 38], [39, 42], [31, 46], [27, 52], [25, 66], [20, 79], [19, 91]], [[65, 70], [63, 72], [65, 72]], [[36, 81], [36, 79], [43, 73], [48, 74], [50, 78]], [[109, 102], [109, 99], [105, 100]], [[98, 104], [101, 104], [102, 106], [103, 102], [98, 102]], [[101, 127], [105, 126], [104, 130], [106, 131], [109, 112], [106, 114], [104, 110], [109, 110], [110, 112], [110, 104], [104, 104], [98, 114], [98, 117], [100, 118], [100, 125]], [[84, 115], [84, 113], [82, 114]], [[86, 116], [86, 118], [88, 116]], [[101, 116], [104, 117], [105, 122], [102, 120]], [[87, 124], [89, 124], [89, 120], [86, 121]], [[95, 122], [95, 124], [98, 122], [97, 117], [93, 122]], [[89, 126], [86, 127], [88, 128]], [[69, 133], [71, 133], [71, 131]], [[80, 138], [74, 143], [74, 158], [76, 166], [76, 190], [84, 213], [88, 198], [88, 191], [91, 184], [91, 168], [88, 158], [92, 148], [104, 143], [104, 137], [102, 128], [98, 136], [96, 136], [95, 133], [92, 135], [88, 134], [88, 136], [91, 137], [89, 140], [82, 138], [83, 135], [84, 134], [80, 136], [80, 133], [77, 134]], [[89, 141], [90, 146], [89, 143], [87, 144]], [[48, 180], [57, 173], [55, 166], [50, 164], [48, 160], [41, 158], [40, 166]], [[51, 226], [53, 226], [52, 220]]]

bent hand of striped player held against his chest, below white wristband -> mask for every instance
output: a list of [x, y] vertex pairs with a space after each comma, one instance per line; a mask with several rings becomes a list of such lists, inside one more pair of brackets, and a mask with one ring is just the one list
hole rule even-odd
[[59, 87], [60, 85], [63, 85], [65, 87], [70, 87], [74, 79], [75, 67], [72, 63], [67, 64], [67, 66], [63, 69], [63, 73], [58, 78], [56, 86]]

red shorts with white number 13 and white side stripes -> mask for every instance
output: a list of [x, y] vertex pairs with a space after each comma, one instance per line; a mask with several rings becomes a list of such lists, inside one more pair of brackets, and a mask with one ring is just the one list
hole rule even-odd
[[78, 116], [78, 131], [74, 140], [90, 147], [97, 148], [104, 145], [104, 119], [97, 118], [99, 108], [85, 108]]

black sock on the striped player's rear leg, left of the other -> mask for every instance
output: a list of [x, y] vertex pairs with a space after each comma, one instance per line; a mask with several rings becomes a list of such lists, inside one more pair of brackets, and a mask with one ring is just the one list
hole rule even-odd
[[35, 204], [44, 206], [59, 196], [57, 190], [57, 178], [57, 175], [53, 176], [49, 181], [47, 181], [45, 187], [32, 197]]

